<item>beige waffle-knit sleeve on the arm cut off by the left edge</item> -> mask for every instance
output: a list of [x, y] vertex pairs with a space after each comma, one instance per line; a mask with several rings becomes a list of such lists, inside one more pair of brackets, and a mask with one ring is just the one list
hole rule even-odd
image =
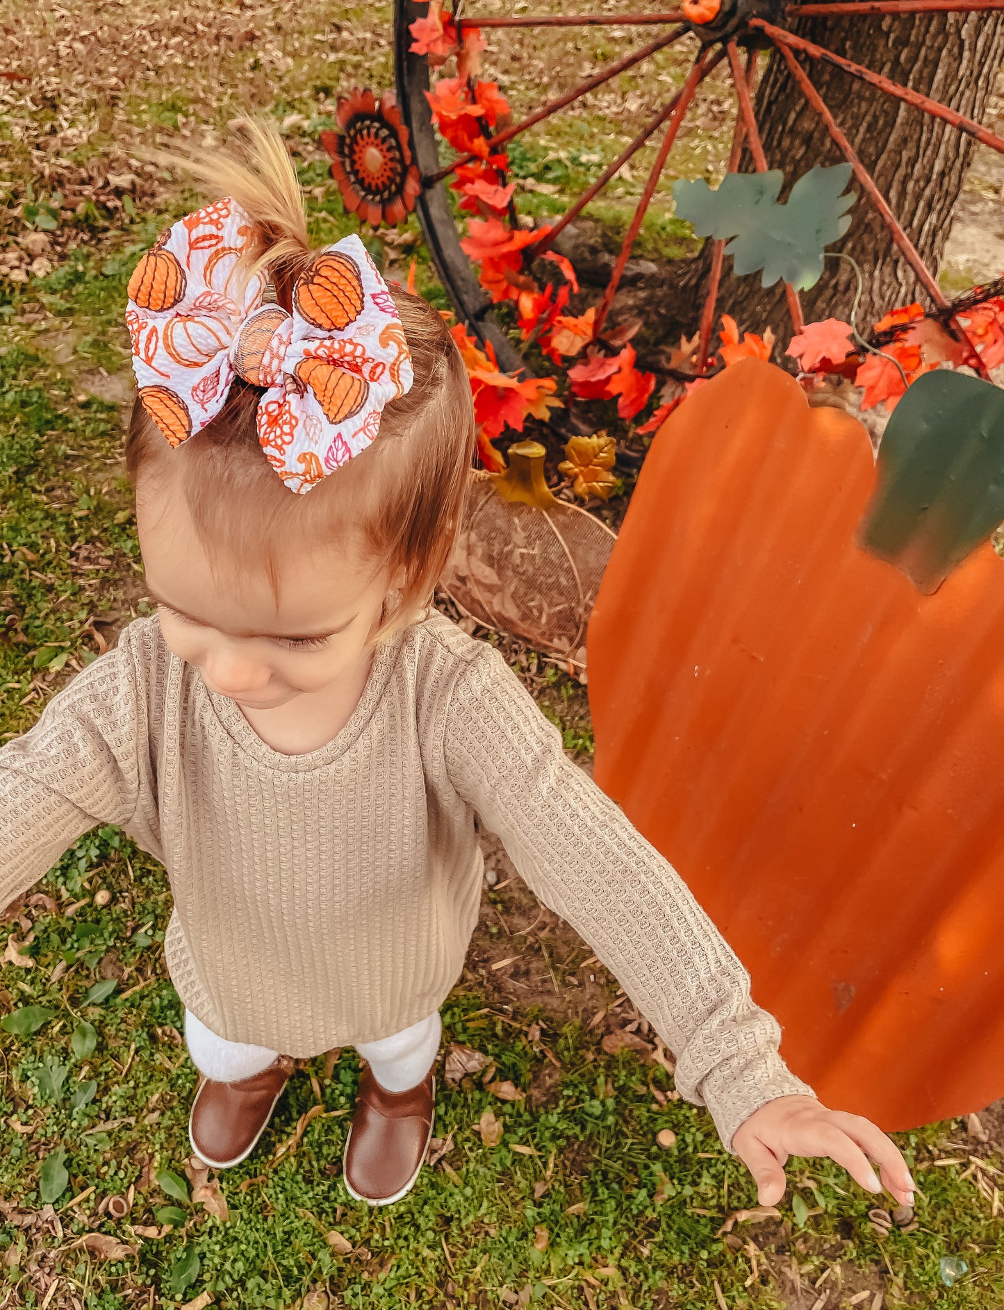
[[0, 909], [89, 828], [130, 821], [140, 736], [138, 677], [125, 641], [88, 664], [30, 731], [0, 749]]

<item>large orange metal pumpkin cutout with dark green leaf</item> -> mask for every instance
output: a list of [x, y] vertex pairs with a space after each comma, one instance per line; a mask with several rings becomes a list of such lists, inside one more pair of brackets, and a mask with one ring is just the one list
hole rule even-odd
[[[877, 476], [864, 427], [781, 369], [713, 379], [653, 440], [587, 643], [596, 781], [735, 947], [793, 1069], [886, 1129], [1004, 1091], [1004, 562], [976, 545], [1004, 394], [916, 386]], [[958, 427], [961, 401], [936, 478], [916, 419]]]

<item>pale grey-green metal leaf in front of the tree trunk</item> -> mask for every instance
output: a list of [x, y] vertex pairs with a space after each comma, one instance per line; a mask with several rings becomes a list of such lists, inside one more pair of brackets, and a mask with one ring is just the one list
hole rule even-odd
[[823, 274], [823, 250], [851, 227], [845, 212], [853, 194], [843, 195], [851, 165], [814, 168], [777, 203], [784, 173], [726, 173], [717, 191], [704, 179], [672, 185], [676, 214], [699, 237], [731, 237], [725, 253], [737, 274], [763, 269], [762, 284], [784, 278], [797, 291], [815, 286]]

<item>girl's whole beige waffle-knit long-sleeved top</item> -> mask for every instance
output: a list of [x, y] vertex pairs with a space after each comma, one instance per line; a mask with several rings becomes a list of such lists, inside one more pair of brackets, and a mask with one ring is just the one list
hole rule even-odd
[[476, 817], [612, 969], [726, 1145], [807, 1091], [663, 857], [565, 755], [492, 646], [433, 613], [374, 659], [326, 745], [282, 755], [140, 618], [0, 749], [0, 907], [89, 828], [166, 867], [168, 969], [231, 1041], [296, 1057], [436, 1010], [478, 912]]

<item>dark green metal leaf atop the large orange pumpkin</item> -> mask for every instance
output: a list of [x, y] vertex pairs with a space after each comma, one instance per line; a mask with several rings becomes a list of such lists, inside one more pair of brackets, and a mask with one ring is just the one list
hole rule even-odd
[[1001, 521], [1004, 390], [924, 373], [889, 419], [859, 545], [931, 593]]

